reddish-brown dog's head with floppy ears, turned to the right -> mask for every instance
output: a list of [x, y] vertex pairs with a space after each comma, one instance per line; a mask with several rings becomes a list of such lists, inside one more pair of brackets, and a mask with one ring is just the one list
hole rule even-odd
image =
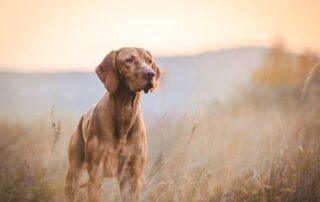
[[143, 48], [121, 48], [104, 58], [96, 74], [110, 93], [121, 85], [131, 92], [148, 93], [157, 87], [160, 70], [153, 56]]

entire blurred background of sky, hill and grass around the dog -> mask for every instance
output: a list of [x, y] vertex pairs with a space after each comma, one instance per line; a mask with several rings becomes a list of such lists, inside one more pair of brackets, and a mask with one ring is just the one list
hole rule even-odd
[[162, 71], [143, 201], [320, 200], [319, 19], [316, 0], [3, 0], [0, 201], [62, 200], [71, 133], [105, 93], [94, 69], [123, 46]]

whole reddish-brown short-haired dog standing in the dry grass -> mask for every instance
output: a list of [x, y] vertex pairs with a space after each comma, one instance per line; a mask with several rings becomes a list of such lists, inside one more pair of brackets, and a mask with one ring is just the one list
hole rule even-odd
[[156, 88], [160, 71], [148, 51], [122, 48], [111, 51], [96, 74], [109, 93], [81, 117], [71, 137], [66, 200], [74, 200], [86, 168], [89, 201], [101, 200], [103, 177], [117, 178], [123, 201], [138, 201], [147, 158], [140, 92]]

